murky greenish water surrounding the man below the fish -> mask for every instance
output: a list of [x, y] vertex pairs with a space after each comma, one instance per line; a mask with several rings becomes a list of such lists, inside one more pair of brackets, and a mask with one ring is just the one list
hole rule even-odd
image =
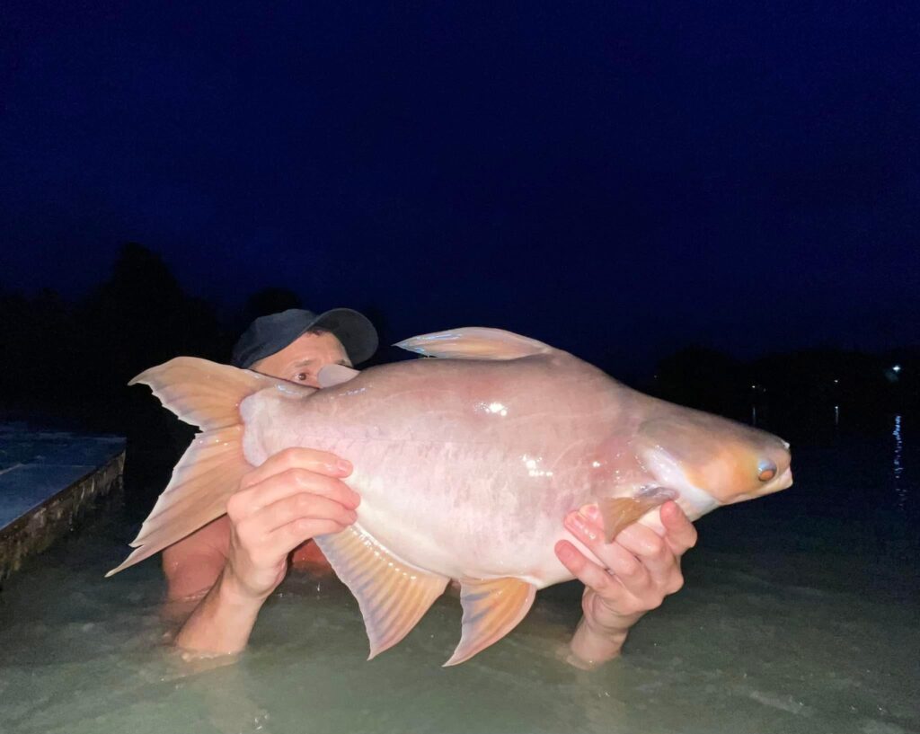
[[305, 576], [239, 659], [191, 666], [163, 644], [155, 563], [102, 578], [134, 528], [98, 522], [0, 594], [0, 730], [920, 732], [918, 428], [795, 443], [795, 486], [700, 521], [684, 590], [593, 672], [558, 659], [580, 614], [573, 584], [443, 669], [454, 598], [367, 662], [357, 604]]

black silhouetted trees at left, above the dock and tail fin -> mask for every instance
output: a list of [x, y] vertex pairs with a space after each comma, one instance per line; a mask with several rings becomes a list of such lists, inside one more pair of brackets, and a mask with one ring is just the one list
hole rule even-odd
[[213, 308], [182, 291], [157, 255], [126, 245], [108, 281], [68, 304], [55, 292], [0, 295], [0, 407], [42, 421], [126, 432], [148, 418], [127, 382], [177, 354], [224, 357]]

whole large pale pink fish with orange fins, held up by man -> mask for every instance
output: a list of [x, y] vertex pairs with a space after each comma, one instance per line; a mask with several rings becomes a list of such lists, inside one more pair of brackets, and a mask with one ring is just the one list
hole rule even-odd
[[[696, 519], [792, 483], [788, 443], [644, 396], [534, 339], [469, 327], [398, 346], [438, 359], [321, 389], [179, 357], [132, 382], [201, 427], [121, 570], [224, 514], [238, 479], [302, 446], [348, 458], [358, 521], [316, 539], [361, 607], [371, 657], [461, 584], [463, 631], [446, 664], [508, 634], [535, 592], [571, 579], [554, 553], [569, 510], [597, 505], [611, 539], [675, 499]], [[659, 526], [660, 527], [660, 526]]]

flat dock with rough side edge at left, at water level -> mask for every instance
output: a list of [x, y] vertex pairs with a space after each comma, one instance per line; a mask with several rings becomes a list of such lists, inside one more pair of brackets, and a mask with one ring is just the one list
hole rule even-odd
[[0, 424], [0, 581], [121, 496], [124, 439]]

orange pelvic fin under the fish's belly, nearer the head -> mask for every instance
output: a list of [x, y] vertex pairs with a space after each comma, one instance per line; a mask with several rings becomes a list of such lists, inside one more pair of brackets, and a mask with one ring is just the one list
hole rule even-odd
[[444, 667], [472, 658], [518, 625], [534, 603], [536, 587], [521, 579], [461, 581], [463, 635]]

